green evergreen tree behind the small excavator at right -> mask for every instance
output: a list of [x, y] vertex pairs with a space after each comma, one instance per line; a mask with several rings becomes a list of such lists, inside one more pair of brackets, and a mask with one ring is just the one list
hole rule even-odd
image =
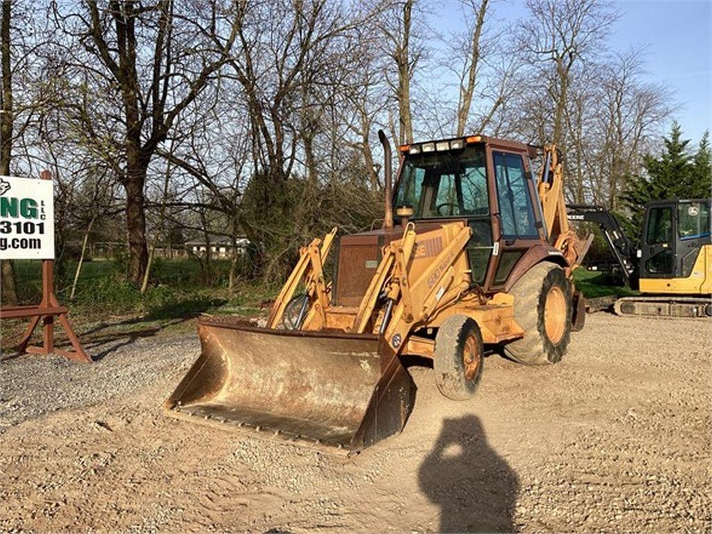
[[682, 130], [674, 122], [669, 137], [664, 137], [664, 150], [659, 157], [645, 155], [641, 174], [626, 177], [621, 204], [629, 216], [624, 224], [629, 236], [638, 241], [643, 224], [645, 206], [652, 200], [693, 199], [710, 196], [711, 150], [708, 132], [702, 136], [694, 155], [689, 150], [690, 140], [682, 139]]

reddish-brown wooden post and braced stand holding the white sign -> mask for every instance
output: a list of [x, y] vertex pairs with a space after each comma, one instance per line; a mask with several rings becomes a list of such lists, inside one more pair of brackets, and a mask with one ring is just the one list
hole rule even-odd
[[[51, 180], [49, 171], [42, 171], [41, 179]], [[6, 182], [7, 183], [7, 182]], [[5, 192], [3, 192], [5, 194]], [[53, 213], [52, 213], [53, 214]], [[53, 225], [53, 221], [47, 221], [48, 226]], [[17, 224], [17, 223], [16, 223]], [[54, 232], [51, 232], [51, 239], [54, 241]], [[52, 257], [53, 253], [52, 242]], [[48, 355], [51, 353], [67, 357], [75, 362], [91, 363], [92, 360], [82, 347], [79, 338], [74, 333], [72, 325], [67, 318], [68, 308], [60, 305], [57, 295], [54, 292], [54, 260], [44, 258], [42, 260], [42, 300], [38, 305], [9, 306], [0, 308], [0, 319], [31, 318], [25, 333], [18, 345], [20, 354], [29, 352], [31, 354]], [[54, 345], [54, 318], [59, 319], [59, 323], [69, 338], [74, 350], [60, 350]], [[40, 347], [30, 345], [32, 334], [34, 333], [40, 320], [43, 325], [43, 343]]]

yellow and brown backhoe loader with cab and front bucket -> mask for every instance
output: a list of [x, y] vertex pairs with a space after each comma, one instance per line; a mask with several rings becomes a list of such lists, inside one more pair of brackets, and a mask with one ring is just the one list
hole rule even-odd
[[303, 247], [266, 327], [199, 320], [202, 352], [169, 414], [360, 451], [407, 421], [408, 355], [431, 359], [456, 400], [475, 393], [485, 346], [528, 365], [561, 360], [585, 320], [572, 271], [592, 236], [568, 226], [555, 147], [482, 135], [405, 145], [393, 188], [379, 139], [382, 228]]

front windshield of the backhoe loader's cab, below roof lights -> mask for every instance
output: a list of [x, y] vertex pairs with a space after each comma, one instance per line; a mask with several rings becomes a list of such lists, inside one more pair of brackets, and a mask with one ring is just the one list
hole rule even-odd
[[411, 206], [414, 218], [489, 213], [484, 145], [457, 152], [408, 155], [395, 206]]

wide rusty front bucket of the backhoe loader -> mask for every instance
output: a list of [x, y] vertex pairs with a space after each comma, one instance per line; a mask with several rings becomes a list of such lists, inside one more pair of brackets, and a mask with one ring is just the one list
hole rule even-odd
[[415, 386], [377, 336], [199, 321], [201, 355], [167, 399], [176, 416], [360, 450], [401, 431]]

